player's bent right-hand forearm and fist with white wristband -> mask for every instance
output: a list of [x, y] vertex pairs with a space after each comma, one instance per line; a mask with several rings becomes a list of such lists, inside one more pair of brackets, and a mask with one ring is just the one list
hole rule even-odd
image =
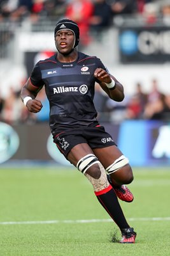
[[[118, 82], [118, 80], [114, 76], [108, 74], [108, 72], [106, 72], [106, 70], [104, 70], [103, 68], [96, 68], [96, 70], [94, 71], [94, 77], [97, 78], [97, 83], [100, 84], [101, 88], [103, 88], [104, 92], [108, 94], [110, 99], [119, 102], [124, 100], [124, 87], [121, 83]], [[110, 84], [113, 84], [112, 88], [108, 88], [110, 87]]]

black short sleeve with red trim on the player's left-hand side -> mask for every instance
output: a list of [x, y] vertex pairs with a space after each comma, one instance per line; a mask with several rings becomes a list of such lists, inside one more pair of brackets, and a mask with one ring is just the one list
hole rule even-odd
[[39, 63], [37, 63], [32, 69], [30, 80], [33, 86], [41, 88], [44, 85], [43, 79], [41, 77], [41, 70], [39, 68]]

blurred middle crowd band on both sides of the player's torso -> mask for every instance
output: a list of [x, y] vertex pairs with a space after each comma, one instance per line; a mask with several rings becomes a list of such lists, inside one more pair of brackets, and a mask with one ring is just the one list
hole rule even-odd
[[[150, 81], [150, 92], [143, 92], [143, 85], [136, 84], [136, 92], [125, 96], [122, 102], [115, 102], [96, 84], [94, 104], [98, 112], [100, 122], [112, 122], [120, 124], [124, 120], [162, 120], [170, 121], [170, 94], [165, 95], [159, 90], [159, 81]], [[20, 99], [20, 91], [12, 88], [8, 98], [0, 97], [0, 121], [8, 124], [34, 124], [48, 122], [49, 106], [45, 90], [41, 90], [38, 98], [43, 108], [37, 114], [30, 113]]]

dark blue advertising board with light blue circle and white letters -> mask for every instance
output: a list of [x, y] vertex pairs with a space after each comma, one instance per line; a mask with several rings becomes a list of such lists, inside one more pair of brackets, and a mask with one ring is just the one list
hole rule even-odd
[[169, 27], [120, 28], [118, 47], [122, 63], [166, 63], [170, 57]]

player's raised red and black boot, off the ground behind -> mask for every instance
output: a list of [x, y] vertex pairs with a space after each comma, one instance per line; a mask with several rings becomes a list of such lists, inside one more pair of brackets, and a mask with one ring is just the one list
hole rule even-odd
[[128, 203], [131, 203], [132, 200], [134, 200], [134, 196], [132, 195], [132, 193], [129, 190], [129, 188], [127, 188], [127, 186], [125, 186], [125, 185], [115, 186], [111, 182], [110, 175], [107, 175], [107, 177], [108, 177], [108, 182], [110, 182], [111, 186], [115, 190], [115, 193], [117, 194], [117, 197], [120, 200], [128, 202]]

